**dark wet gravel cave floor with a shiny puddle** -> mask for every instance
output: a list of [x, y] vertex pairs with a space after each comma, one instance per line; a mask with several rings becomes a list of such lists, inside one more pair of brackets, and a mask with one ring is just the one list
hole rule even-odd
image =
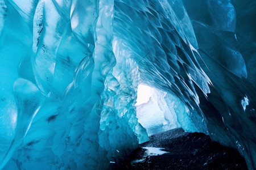
[[221, 146], [203, 133], [174, 129], [155, 134], [122, 164], [112, 169], [247, 169], [234, 148]]

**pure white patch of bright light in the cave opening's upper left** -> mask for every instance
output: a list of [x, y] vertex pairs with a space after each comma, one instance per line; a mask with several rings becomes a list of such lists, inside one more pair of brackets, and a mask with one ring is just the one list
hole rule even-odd
[[147, 103], [151, 97], [152, 88], [143, 84], [139, 84], [137, 90], [137, 103], [135, 105], [141, 105]]

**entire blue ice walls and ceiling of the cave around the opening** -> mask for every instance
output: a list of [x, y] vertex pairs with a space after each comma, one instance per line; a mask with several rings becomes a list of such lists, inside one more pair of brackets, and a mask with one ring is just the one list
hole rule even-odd
[[[256, 168], [253, 0], [0, 0], [0, 169], [102, 169], [148, 140], [138, 84]], [[161, 107], [161, 106], [160, 106]], [[167, 114], [166, 117], [168, 117]]]

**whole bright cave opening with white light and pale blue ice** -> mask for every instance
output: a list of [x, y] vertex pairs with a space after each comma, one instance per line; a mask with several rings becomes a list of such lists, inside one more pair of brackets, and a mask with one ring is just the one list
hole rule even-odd
[[[170, 107], [171, 104], [167, 104], [166, 95], [167, 92], [154, 87], [142, 83], [138, 85], [137, 103], [135, 104], [136, 116], [149, 136], [180, 128], [173, 107]], [[174, 101], [168, 102], [174, 104]]]

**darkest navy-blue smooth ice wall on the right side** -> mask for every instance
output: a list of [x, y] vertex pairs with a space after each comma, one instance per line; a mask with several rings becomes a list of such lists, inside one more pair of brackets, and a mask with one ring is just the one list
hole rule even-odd
[[[199, 3], [200, 6], [196, 5]], [[231, 145], [245, 156], [248, 167], [255, 169], [256, 2], [196, 1], [191, 4], [184, 1], [184, 4], [199, 44], [197, 60], [213, 83], [208, 98], [197, 92], [200, 108], [208, 117], [209, 130], [224, 129]], [[201, 11], [201, 16], [195, 15], [195, 10]], [[215, 134], [213, 139], [225, 143], [219, 133]]]

